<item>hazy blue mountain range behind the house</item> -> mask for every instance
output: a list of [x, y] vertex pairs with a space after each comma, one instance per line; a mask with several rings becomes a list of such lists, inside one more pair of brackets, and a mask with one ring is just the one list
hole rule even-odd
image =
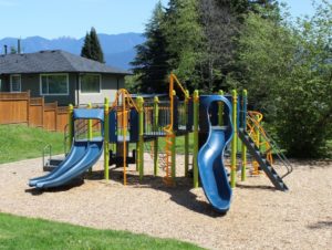
[[[122, 33], [122, 34], [98, 34], [98, 39], [104, 52], [106, 64], [128, 70], [129, 62], [135, 58], [135, 45], [145, 41], [141, 33]], [[41, 50], [64, 50], [73, 54], [80, 54], [84, 38], [73, 39], [62, 37], [59, 39], [44, 39], [41, 37], [30, 37], [21, 40], [23, 53], [38, 52]], [[0, 53], [3, 54], [3, 45], [17, 48], [18, 40], [14, 38], [4, 38], [0, 40]]]

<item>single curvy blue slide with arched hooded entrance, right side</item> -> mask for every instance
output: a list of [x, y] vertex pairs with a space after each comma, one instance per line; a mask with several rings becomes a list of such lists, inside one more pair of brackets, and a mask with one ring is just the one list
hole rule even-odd
[[[215, 102], [224, 102], [228, 114], [228, 126], [212, 126], [209, 119], [209, 108]], [[227, 212], [230, 207], [231, 188], [224, 166], [224, 153], [232, 138], [231, 105], [220, 95], [207, 96], [201, 102], [204, 114], [200, 117], [208, 122], [209, 135], [198, 153], [198, 168], [204, 192], [219, 212]]]

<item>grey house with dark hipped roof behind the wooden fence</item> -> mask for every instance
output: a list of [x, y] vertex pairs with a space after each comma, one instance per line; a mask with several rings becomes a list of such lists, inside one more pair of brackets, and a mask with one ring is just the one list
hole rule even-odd
[[114, 100], [129, 73], [61, 50], [0, 55], [0, 91], [27, 92], [59, 105]]

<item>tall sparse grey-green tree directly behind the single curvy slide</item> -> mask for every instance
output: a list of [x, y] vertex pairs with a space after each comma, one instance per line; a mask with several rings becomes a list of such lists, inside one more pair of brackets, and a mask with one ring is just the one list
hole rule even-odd
[[199, 2], [205, 38], [203, 81], [206, 88], [212, 91], [220, 88], [225, 75], [231, 71], [239, 21], [232, 13], [229, 1], [227, 4], [221, 4], [216, 0], [200, 0]]

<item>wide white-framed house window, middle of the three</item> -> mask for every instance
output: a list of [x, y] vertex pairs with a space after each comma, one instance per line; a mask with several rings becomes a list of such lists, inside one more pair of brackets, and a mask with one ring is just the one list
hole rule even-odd
[[68, 95], [68, 74], [42, 74], [40, 76], [41, 95]]

